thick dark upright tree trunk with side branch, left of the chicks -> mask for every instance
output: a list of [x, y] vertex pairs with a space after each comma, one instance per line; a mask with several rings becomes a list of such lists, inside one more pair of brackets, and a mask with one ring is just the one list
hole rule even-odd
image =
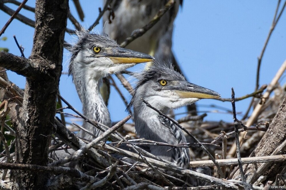
[[[12, 118], [16, 163], [47, 165], [68, 11], [68, 0], [36, 1], [35, 34], [29, 60], [0, 52], [1, 66], [26, 76], [23, 107], [19, 108], [19, 117]], [[15, 189], [45, 189], [48, 178], [45, 172], [13, 171]]]

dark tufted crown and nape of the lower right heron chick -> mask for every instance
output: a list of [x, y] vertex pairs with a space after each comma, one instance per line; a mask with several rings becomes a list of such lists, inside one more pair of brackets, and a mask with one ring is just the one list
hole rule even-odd
[[161, 79], [172, 81], [172, 80], [186, 80], [182, 74], [176, 72], [173, 67], [168, 67], [162, 64], [154, 63], [148, 70], [144, 70], [139, 74], [134, 75], [137, 78], [136, 87], [134, 88], [134, 95], [126, 110], [131, 110], [136, 92], [140, 86], [144, 83], [154, 80], [159, 81]]

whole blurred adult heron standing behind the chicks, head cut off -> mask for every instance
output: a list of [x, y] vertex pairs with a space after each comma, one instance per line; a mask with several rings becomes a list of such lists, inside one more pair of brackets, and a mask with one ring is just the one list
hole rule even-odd
[[[104, 0], [104, 5], [106, 2], [107, 0]], [[114, 18], [110, 17], [110, 11], [104, 13], [103, 32], [110, 35], [112, 39], [120, 44], [127, 37], [130, 37], [136, 29], [148, 24], [167, 2], [168, 0], [112, 1], [110, 3], [110, 9], [114, 13]], [[175, 70], [182, 73], [172, 52], [173, 22], [182, 3], [183, 0], [175, 0], [175, 5], [168, 10], [152, 28], [126, 47], [150, 54], [154, 56], [159, 63], [169, 65], [172, 63]], [[146, 68], [150, 65], [152, 65], [151, 62], [147, 63]], [[106, 86], [106, 88], [109, 87]], [[108, 96], [104, 96], [104, 99], [108, 102]]]

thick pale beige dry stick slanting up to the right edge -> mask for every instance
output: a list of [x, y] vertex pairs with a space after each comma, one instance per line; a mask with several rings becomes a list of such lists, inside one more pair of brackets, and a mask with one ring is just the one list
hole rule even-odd
[[[251, 126], [255, 122], [255, 120], [257, 119], [257, 117], [261, 111], [263, 104], [265, 103], [265, 100], [267, 100], [267, 98], [269, 98], [271, 92], [274, 90], [275, 85], [277, 84], [279, 78], [282, 76], [282, 74], [284, 73], [285, 70], [286, 70], [286, 60], [283, 62], [283, 64], [281, 65], [281, 67], [277, 71], [276, 75], [274, 76], [274, 78], [272, 79], [270, 84], [267, 86], [267, 90], [262, 96], [262, 104], [257, 104], [257, 106], [253, 110], [251, 116], [247, 120], [246, 126]], [[243, 143], [243, 139], [245, 138], [246, 135], [247, 135], [247, 131], [245, 131], [239, 135], [239, 142], [241, 144]], [[231, 147], [231, 149], [229, 150], [228, 155], [231, 157], [234, 157], [235, 151], [236, 151], [236, 146], [233, 145]]]

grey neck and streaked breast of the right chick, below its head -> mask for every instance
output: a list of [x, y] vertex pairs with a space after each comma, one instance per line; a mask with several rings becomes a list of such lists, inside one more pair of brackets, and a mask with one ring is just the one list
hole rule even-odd
[[[141, 100], [134, 101], [133, 105], [135, 129], [140, 138], [173, 145], [186, 143], [186, 138], [180, 128], [168, 119], [160, 116], [152, 108], [147, 107], [144, 102], [141, 102]], [[161, 111], [166, 114], [169, 109]], [[172, 148], [157, 145], [149, 146], [150, 153], [171, 161], [180, 167], [187, 168], [190, 161], [188, 148]], [[169, 149], [172, 149], [172, 151], [168, 151]]]

